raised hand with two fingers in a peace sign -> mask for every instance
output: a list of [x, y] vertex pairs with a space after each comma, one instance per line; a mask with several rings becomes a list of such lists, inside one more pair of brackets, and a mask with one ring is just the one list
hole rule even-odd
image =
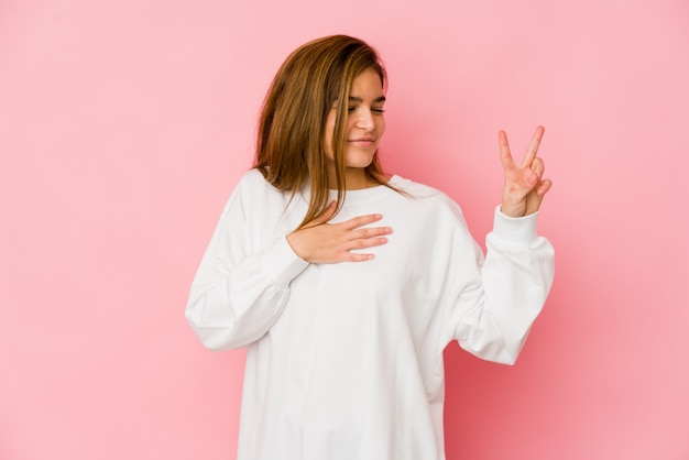
[[523, 217], [536, 212], [553, 185], [550, 179], [542, 178], [544, 164], [543, 160], [536, 156], [544, 132], [543, 127], [536, 128], [521, 166], [512, 158], [507, 134], [504, 131], [497, 134], [500, 160], [505, 173], [501, 211], [506, 216]]

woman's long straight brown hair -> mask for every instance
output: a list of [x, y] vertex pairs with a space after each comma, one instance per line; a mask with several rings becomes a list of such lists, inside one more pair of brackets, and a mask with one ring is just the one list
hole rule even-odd
[[[308, 210], [299, 228], [326, 208], [329, 187], [337, 188], [338, 210], [343, 204], [348, 103], [337, 105], [332, 135], [336, 184], [328, 184], [326, 118], [333, 102], [349, 100], [352, 80], [369, 68], [385, 88], [385, 68], [374, 48], [347, 35], [317, 39], [287, 57], [265, 96], [254, 167], [275, 188], [291, 191], [293, 197], [304, 185], [310, 186]], [[387, 185], [378, 152], [365, 173], [374, 183]]]

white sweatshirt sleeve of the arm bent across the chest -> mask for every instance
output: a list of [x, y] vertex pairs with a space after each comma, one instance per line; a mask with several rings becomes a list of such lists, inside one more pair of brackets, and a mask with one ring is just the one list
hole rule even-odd
[[[249, 188], [249, 189], [247, 189]], [[285, 236], [265, 239], [262, 206], [240, 183], [228, 200], [192, 284], [185, 316], [205, 347], [244, 347], [280, 317], [289, 283], [308, 265]], [[262, 226], [263, 224], [263, 226]]]

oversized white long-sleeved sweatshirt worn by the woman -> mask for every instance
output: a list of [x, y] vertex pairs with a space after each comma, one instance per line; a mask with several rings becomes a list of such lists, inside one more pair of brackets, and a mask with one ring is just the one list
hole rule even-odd
[[442, 350], [514, 363], [554, 275], [536, 215], [495, 211], [485, 261], [459, 207], [393, 176], [347, 191], [333, 222], [382, 213], [367, 262], [309, 264], [287, 244], [303, 195], [249, 172], [194, 280], [186, 317], [214, 350], [248, 347], [238, 460], [441, 460]]

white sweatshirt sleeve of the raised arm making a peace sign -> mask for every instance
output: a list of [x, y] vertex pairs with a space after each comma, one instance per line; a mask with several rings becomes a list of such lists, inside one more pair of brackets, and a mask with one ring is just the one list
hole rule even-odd
[[537, 212], [511, 218], [495, 209], [486, 255], [475, 244], [475, 273], [456, 293], [452, 324], [460, 346], [479, 358], [514, 364], [555, 274], [550, 243], [536, 233]]

